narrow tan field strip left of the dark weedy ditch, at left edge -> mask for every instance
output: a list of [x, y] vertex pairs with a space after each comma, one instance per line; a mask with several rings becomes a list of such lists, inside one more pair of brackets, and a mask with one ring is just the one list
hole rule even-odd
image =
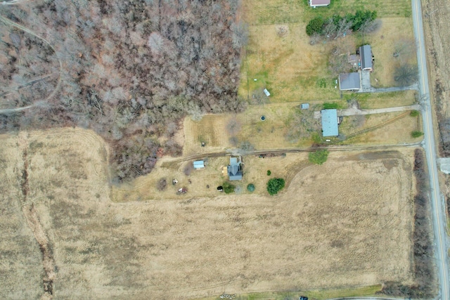
[[38, 299], [42, 286], [39, 244], [22, 212], [18, 139], [0, 136], [0, 298]]

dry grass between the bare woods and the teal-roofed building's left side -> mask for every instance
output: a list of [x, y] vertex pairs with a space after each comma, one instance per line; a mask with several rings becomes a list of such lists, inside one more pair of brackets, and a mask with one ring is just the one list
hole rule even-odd
[[[197, 122], [186, 117], [183, 153], [186, 156], [224, 151], [239, 148], [243, 142], [249, 142], [256, 150], [307, 147], [311, 145], [310, 138], [293, 142], [286, 138], [290, 126], [295, 126], [293, 114], [295, 114], [295, 110], [300, 109], [300, 104], [301, 102], [250, 105], [245, 112], [237, 115], [207, 115]], [[309, 104], [310, 110], [321, 109], [320, 103], [309, 101]], [[263, 115], [264, 121], [261, 120]], [[238, 124], [233, 135], [227, 128], [231, 122]], [[320, 120], [314, 120], [311, 116], [311, 124], [315, 124], [315, 122], [320, 122]], [[307, 124], [302, 124], [302, 126], [307, 126]], [[320, 133], [319, 127], [315, 128], [318, 133]], [[232, 139], [232, 137], [234, 138]], [[200, 145], [201, 141], [206, 141], [205, 147]]]

